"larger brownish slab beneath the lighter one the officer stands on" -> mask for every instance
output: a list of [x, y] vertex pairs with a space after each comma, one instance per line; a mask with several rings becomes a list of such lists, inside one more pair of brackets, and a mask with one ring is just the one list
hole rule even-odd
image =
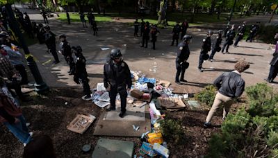
[[[145, 106], [145, 110], [149, 105]], [[104, 120], [105, 112], [99, 116], [95, 125], [94, 135], [115, 137], [141, 137], [142, 133], [151, 131], [151, 119], [149, 112], [145, 113], [145, 121], [114, 121]], [[139, 130], [133, 130], [133, 126], [139, 126]]]

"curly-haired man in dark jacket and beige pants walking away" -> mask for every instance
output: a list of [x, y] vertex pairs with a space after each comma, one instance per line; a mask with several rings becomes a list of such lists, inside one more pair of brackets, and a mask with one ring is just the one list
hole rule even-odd
[[213, 82], [213, 84], [218, 87], [218, 94], [216, 94], [213, 105], [208, 112], [208, 116], [206, 116], [206, 122], [204, 123], [205, 128], [211, 127], [211, 119], [221, 103], [224, 105], [223, 119], [226, 118], [231, 105], [234, 103], [234, 98], [241, 96], [244, 91], [245, 81], [241, 78], [240, 73], [249, 67], [250, 64], [248, 64], [248, 62], [240, 60], [236, 63], [234, 71], [222, 73], [222, 75]]

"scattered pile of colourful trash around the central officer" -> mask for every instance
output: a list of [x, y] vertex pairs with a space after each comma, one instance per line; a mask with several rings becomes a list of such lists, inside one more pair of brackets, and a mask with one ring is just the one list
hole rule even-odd
[[[164, 119], [165, 115], [161, 114], [159, 109], [166, 109], [170, 112], [184, 109], [186, 104], [183, 100], [188, 99], [188, 94], [174, 94], [169, 81], [147, 78], [141, 71], [131, 71], [131, 77], [133, 85], [128, 93], [127, 103], [138, 107], [145, 107], [149, 104], [152, 124], [152, 130], [143, 133], [140, 139], [142, 141], [140, 155], [169, 157], [170, 151], [167, 149], [167, 143], [163, 141], [158, 123], [158, 120]], [[92, 95], [92, 102], [99, 107], [106, 107], [110, 104], [109, 101], [104, 83], [98, 83]], [[120, 96], [116, 98], [116, 105], [120, 105]], [[138, 127], [133, 125], [133, 129], [138, 130]], [[134, 155], [134, 157], [137, 156]]]

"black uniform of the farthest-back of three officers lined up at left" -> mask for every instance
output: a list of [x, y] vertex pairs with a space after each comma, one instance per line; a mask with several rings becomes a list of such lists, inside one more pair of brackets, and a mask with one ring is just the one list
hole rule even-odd
[[54, 33], [52, 33], [50, 30], [48, 33], [44, 33], [44, 41], [45, 44], [47, 44], [47, 49], [54, 56], [55, 62], [60, 62], [56, 52], [56, 40]]

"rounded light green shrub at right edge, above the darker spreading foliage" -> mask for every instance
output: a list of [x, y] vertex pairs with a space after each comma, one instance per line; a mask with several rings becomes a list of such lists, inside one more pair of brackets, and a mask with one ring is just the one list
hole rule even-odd
[[246, 88], [251, 116], [272, 116], [278, 114], [278, 95], [266, 83], [259, 83]]

